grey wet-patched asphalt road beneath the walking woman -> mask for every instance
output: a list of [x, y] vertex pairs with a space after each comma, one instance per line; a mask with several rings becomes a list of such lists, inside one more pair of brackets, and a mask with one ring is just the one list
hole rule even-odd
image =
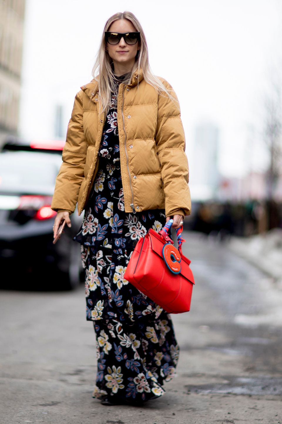
[[[228, 244], [185, 238], [196, 285], [191, 311], [173, 316], [181, 357], [165, 395], [143, 407], [91, 397], [95, 335], [83, 287], [3, 290], [1, 424], [282, 423], [281, 290]], [[11, 285], [20, 278], [11, 270]]]

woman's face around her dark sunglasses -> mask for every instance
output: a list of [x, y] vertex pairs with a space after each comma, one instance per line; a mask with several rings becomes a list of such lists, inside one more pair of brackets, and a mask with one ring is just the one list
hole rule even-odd
[[[136, 28], [127, 19], [119, 19], [112, 23], [108, 31], [111, 32], [135, 32]], [[135, 63], [135, 56], [140, 47], [138, 42], [134, 45], [126, 44], [123, 37], [118, 44], [112, 45], [107, 43], [107, 50], [114, 64], [115, 73], [119, 71], [129, 72]]]

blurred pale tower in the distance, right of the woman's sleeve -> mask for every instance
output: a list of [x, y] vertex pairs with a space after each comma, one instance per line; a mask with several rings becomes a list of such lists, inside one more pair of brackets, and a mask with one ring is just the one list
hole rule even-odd
[[219, 129], [210, 123], [195, 128], [194, 166], [191, 178], [193, 198], [208, 200], [217, 197], [219, 184]]

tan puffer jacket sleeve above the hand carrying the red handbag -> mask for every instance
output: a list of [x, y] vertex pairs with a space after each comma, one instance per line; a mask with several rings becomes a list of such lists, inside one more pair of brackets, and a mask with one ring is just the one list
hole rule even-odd
[[189, 215], [191, 213], [189, 168], [179, 103], [170, 84], [165, 80], [162, 82], [172, 98], [175, 98], [172, 100], [165, 92], [158, 95], [155, 139], [164, 184], [165, 214], [171, 216], [175, 211], [182, 209], [185, 215]]

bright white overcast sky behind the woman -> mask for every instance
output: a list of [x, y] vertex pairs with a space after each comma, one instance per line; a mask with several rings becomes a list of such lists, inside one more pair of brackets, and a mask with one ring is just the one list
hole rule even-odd
[[258, 132], [270, 75], [282, 65], [282, 1], [26, 3], [24, 137], [54, 138], [55, 105], [63, 106], [66, 129], [74, 96], [92, 79], [105, 21], [129, 10], [144, 28], [153, 73], [167, 79], [180, 100], [191, 173], [200, 160], [193, 155], [194, 128], [203, 122], [219, 127], [222, 174], [240, 176], [266, 166]]

